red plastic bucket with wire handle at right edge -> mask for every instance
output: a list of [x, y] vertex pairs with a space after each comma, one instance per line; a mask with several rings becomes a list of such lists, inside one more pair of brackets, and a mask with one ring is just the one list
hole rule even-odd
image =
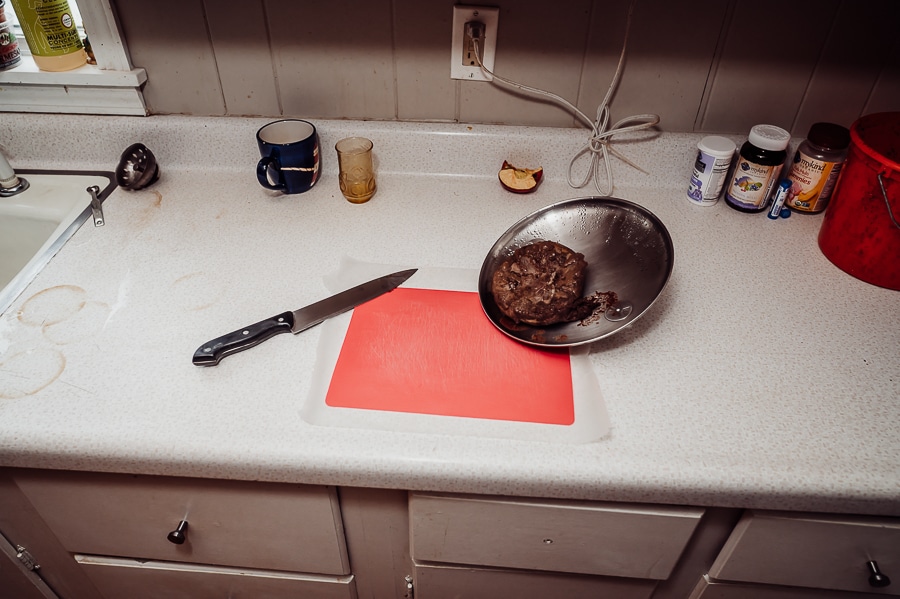
[[819, 248], [857, 279], [900, 290], [900, 112], [869, 114], [850, 128]]

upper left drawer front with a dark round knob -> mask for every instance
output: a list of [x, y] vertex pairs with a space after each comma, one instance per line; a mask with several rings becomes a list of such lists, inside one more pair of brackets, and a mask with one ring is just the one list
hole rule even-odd
[[[348, 574], [329, 487], [23, 471], [15, 481], [72, 553]], [[187, 540], [167, 540], [187, 520]]]

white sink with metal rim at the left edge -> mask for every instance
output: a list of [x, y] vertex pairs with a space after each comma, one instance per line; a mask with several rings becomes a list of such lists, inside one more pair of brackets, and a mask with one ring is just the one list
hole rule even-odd
[[0, 314], [91, 216], [88, 187], [102, 202], [116, 188], [115, 174], [100, 171], [19, 170], [24, 192], [0, 197]]

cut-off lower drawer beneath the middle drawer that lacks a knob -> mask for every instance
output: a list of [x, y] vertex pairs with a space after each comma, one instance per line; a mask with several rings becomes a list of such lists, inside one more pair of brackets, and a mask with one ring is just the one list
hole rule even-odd
[[655, 580], [415, 564], [416, 599], [649, 599]]

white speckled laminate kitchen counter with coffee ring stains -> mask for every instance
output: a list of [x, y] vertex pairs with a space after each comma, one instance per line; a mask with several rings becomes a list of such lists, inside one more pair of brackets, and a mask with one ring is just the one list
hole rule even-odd
[[[565, 181], [584, 131], [325, 121], [322, 179], [281, 196], [254, 175], [264, 122], [0, 115], [16, 168], [114, 170], [141, 141], [162, 170], [0, 316], [0, 465], [900, 516], [900, 293], [833, 266], [821, 215], [690, 204], [700, 135], [618, 146], [648, 174], [615, 160], [612, 195], [653, 211], [676, 258], [651, 310], [589, 347], [601, 440], [308, 424], [320, 328], [192, 365], [203, 341], [328, 295], [342, 257], [477, 271], [519, 218], [598, 195]], [[363, 205], [338, 190], [348, 135], [375, 142]], [[543, 165], [537, 192], [503, 191], [504, 159]]]

